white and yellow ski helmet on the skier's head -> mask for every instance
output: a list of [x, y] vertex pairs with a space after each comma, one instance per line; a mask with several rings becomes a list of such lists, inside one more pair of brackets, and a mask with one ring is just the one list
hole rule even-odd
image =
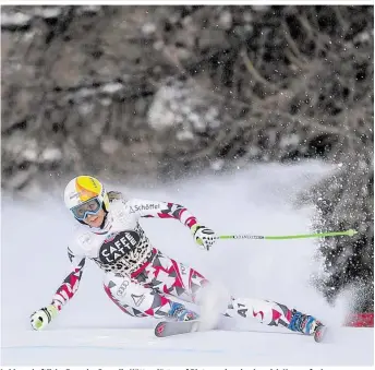
[[64, 202], [73, 216], [83, 222], [87, 215], [96, 214], [100, 208], [109, 210], [109, 199], [101, 182], [92, 176], [77, 176], [64, 191]]

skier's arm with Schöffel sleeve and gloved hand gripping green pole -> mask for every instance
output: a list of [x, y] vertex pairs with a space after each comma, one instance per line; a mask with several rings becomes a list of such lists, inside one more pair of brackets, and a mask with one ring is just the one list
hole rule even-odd
[[128, 201], [130, 213], [136, 213], [140, 217], [174, 218], [190, 228], [195, 242], [208, 250], [215, 242], [215, 232], [199, 225], [196, 217], [183, 205], [177, 203], [155, 202], [140, 199]]

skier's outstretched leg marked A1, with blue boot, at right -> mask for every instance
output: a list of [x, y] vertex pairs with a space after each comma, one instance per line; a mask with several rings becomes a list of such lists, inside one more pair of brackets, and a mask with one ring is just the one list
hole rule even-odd
[[266, 325], [280, 325], [303, 334], [314, 334], [317, 326], [322, 325], [312, 315], [289, 309], [285, 305], [261, 299], [231, 298], [225, 314], [230, 318], [255, 319]]

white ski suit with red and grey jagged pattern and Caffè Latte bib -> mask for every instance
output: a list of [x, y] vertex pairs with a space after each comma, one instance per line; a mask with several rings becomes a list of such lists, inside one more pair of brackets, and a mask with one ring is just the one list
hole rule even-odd
[[[104, 227], [90, 229], [84, 226], [70, 243], [68, 254], [72, 272], [52, 299], [59, 310], [76, 293], [86, 259], [93, 260], [105, 272], [104, 287], [109, 298], [132, 317], [167, 317], [173, 297], [199, 303], [197, 296], [208, 281], [194, 268], [153, 247], [138, 224], [140, 217], [174, 218], [189, 228], [197, 223], [179, 204], [140, 199], [126, 201], [116, 196], [111, 200]], [[222, 314], [287, 326], [292, 311], [271, 301], [231, 298]]]

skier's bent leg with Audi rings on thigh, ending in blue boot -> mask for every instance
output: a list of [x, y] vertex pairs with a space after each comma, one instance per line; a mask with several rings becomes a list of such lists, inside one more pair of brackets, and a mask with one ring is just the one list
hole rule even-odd
[[130, 277], [106, 274], [105, 290], [123, 312], [132, 317], [153, 317], [155, 319], [168, 317], [180, 321], [196, 318], [195, 312], [186, 310], [182, 305], [174, 302], [156, 289], [143, 286]]

